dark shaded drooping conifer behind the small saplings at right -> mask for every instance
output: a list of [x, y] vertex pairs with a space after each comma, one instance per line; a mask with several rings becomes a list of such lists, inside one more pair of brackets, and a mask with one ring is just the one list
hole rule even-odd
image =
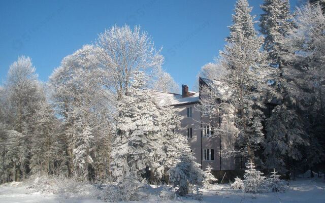
[[271, 117], [267, 119], [266, 131], [266, 166], [277, 167], [285, 172], [287, 161], [300, 160], [301, 148], [308, 145], [304, 123], [295, 110], [280, 105], [274, 108]]

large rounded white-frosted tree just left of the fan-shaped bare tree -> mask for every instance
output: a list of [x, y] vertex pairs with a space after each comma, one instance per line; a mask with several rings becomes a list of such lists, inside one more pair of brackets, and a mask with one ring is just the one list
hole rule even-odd
[[[94, 46], [85, 45], [82, 49], [65, 57], [49, 78], [51, 100], [56, 113], [63, 121], [69, 176], [75, 170], [79, 174], [94, 171], [94, 174], [83, 177], [101, 176], [104, 178], [108, 175], [104, 164], [106, 163], [107, 166], [109, 162], [112, 140], [111, 123], [114, 122], [112, 115], [115, 110], [110, 103], [112, 97], [110, 92], [106, 91], [101, 84], [96, 54]], [[84, 133], [87, 127], [90, 128], [93, 136], [91, 145], [84, 145], [84, 141], [88, 140], [88, 135]], [[84, 149], [90, 146], [94, 147]], [[88, 167], [79, 167], [79, 164], [74, 164], [74, 159], [79, 154], [77, 151], [81, 148], [92, 152], [88, 154], [92, 159], [91, 164], [87, 162], [89, 168], [92, 169], [90, 171]]]

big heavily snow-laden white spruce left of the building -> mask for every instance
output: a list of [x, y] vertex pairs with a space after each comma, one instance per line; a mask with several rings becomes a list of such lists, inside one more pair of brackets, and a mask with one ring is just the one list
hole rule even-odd
[[159, 111], [148, 92], [142, 89], [145, 73], [135, 71], [133, 78], [118, 106], [117, 134], [110, 164], [117, 182], [131, 172], [141, 175], [147, 167], [155, 167], [154, 156], [162, 152], [157, 142], [159, 127], [155, 124]]

